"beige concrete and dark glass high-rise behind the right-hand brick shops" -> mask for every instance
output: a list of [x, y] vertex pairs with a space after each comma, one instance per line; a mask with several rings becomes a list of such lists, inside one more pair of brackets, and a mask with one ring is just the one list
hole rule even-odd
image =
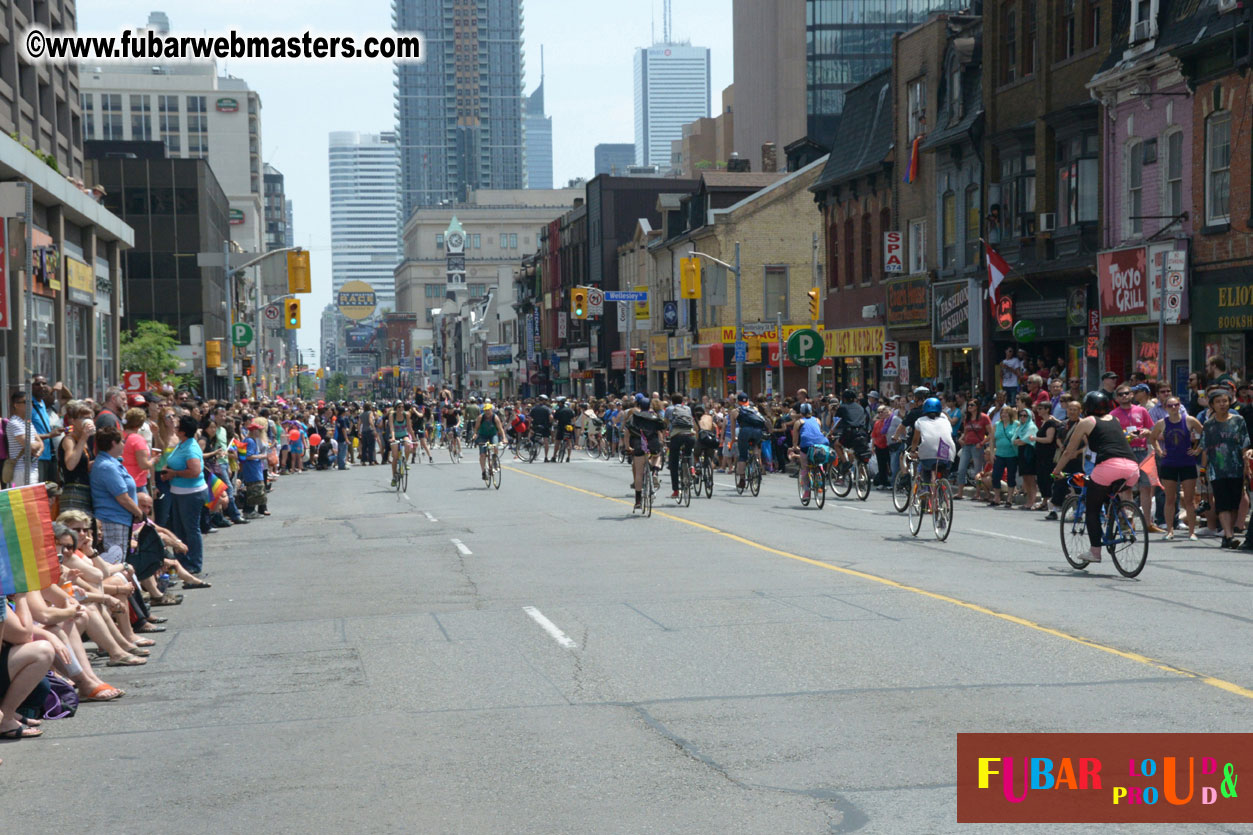
[[892, 63], [892, 36], [971, 0], [733, 0], [734, 150], [762, 169], [762, 145], [834, 137], [845, 92]]

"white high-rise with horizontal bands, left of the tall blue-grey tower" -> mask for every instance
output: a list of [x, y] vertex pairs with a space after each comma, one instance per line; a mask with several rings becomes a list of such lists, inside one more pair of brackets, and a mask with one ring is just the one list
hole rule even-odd
[[395, 310], [401, 261], [400, 163], [395, 133], [333, 130], [331, 154], [331, 287], [375, 290], [377, 310]]

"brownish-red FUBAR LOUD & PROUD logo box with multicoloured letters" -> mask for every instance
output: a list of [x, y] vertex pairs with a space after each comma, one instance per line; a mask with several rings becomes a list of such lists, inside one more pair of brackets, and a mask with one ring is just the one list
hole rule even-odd
[[1253, 822], [1253, 733], [959, 733], [962, 824]]

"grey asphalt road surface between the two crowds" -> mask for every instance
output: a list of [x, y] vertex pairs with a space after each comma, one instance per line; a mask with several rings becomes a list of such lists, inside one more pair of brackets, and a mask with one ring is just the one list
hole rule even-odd
[[446, 459], [403, 496], [382, 466], [281, 479], [271, 519], [209, 538], [214, 587], [152, 662], [105, 671], [123, 700], [0, 746], [6, 820], [949, 832], [959, 731], [1253, 720], [1253, 559], [1217, 540], [1154, 542], [1128, 580], [1070, 570], [1042, 514], [959, 503], [940, 544], [881, 493], [718, 476], [643, 519], [628, 485], [579, 458], [499, 491]]

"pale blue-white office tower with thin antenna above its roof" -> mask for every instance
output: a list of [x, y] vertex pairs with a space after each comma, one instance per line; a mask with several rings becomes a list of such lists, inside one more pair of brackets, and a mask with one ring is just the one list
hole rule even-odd
[[653, 44], [635, 50], [635, 163], [670, 168], [683, 125], [709, 115], [709, 50]]

